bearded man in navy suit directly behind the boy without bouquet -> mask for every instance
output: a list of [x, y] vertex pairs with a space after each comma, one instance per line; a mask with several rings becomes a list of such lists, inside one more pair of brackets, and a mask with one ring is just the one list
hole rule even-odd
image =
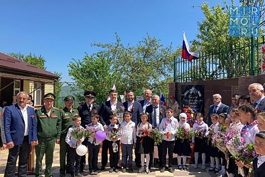
[[[141, 122], [140, 119], [140, 114], [143, 112], [142, 111], [142, 106], [139, 102], [134, 101], [134, 93], [132, 91], [127, 92], [127, 100], [126, 102], [123, 103], [123, 106], [125, 108], [125, 111], [131, 111], [132, 112], [132, 118], [131, 120], [135, 123], [137, 126], [138, 123]], [[137, 167], [141, 167], [141, 155], [134, 151], [135, 154], [135, 164]]]

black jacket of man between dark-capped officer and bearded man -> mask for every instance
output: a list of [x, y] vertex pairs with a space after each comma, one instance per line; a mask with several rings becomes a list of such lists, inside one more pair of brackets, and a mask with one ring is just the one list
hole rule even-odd
[[[120, 108], [122, 106], [123, 106], [123, 104], [121, 102], [117, 102], [116, 108]], [[113, 114], [113, 112], [112, 112], [112, 108], [111, 108], [111, 101], [109, 100], [107, 102], [103, 102], [101, 107], [100, 107], [100, 110], [99, 110], [99, 116], [104, 121], [104, 123], [102, 124], [103, 126], [111, 124], [110, 116], [112, 114]]]

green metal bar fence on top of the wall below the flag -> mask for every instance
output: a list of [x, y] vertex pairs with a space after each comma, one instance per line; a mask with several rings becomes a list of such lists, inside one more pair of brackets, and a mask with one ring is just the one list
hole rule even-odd
[[[251, 53], [251, 44], [253, 52]], [[260, 45], [264, 35], [231, 43], [207, 52], [199, 53], [199, 58], [189, 62], [181, 57], [174, 58], [174, 82], [234, 78], [258, 75], [260, 69]], [[252, 60], [253, 58], [253, 60]]]

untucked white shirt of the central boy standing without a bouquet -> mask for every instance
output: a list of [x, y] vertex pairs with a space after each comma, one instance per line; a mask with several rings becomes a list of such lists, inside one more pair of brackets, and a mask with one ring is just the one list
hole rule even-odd
[[126, 145], [136, 143], [136, 128], [133, 121], [122, 123], [121, 143]]

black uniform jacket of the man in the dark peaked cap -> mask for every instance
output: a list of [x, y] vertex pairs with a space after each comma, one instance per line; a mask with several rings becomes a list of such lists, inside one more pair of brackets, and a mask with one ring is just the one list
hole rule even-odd
[[[89, 111], [87, 104], [85, 103], [78, 107], [78, 112], [81, 117], [81, 126], [85, 128], [86, 127], [85, 125], [88, 125], [89, 123], [91, 123], [91, 114], [99, 113], [99, 106], [95, 103], [92, 103], [92, 109], [91, 111]], [[102, 120], [102, 117], [99, 117], [99, 122], [101, 124], [104, 123], [104, 121]]]

